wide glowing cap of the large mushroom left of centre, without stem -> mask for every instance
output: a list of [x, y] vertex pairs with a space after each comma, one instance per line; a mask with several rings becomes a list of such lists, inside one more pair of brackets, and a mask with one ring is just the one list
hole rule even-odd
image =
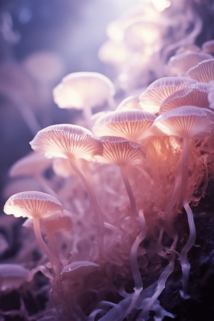
[[47, 158], [92, 160], [94, 155], [102, 154], [102, 144], [88, 129], [70, 124], [51, 125], [42, 129], [30, 145]]

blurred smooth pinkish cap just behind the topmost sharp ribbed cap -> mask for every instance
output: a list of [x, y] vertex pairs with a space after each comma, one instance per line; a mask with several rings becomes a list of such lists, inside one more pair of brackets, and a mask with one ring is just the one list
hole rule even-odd
[[186, 72], [205, 59], [211, 59], [212, 56], [204, 52], [188, 52], [177, 54], [169, 59], [168, 66], [175, 71], [178, 76], [184, 76]]

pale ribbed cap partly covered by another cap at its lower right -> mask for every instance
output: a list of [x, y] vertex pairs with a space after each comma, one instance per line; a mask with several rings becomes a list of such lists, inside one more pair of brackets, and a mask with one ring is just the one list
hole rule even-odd
[[140, 95], [140, 106], [144, 111], [156, 114], [169, 95], [194, 83], [196, 83], [194, 79], [187, 77], [159, 78]]

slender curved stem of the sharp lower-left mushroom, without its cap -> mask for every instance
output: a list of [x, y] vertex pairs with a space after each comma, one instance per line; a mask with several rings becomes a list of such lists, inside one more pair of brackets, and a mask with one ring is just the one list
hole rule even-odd
[[55, 272], [55, 275], [60, 275], [60, 272], [62, 270], [61, 264], [59, 259], [49, 250], [47, 245], [45, 244], [41, 230], [40, 230], [40, 218], [34, 217], [33, 218], [33, 229], [35, 233], [35, 238], [38, 243], [38, 246], [41, 248], [41, 250], [47, 255], [47, 257], [50, 259], [52, 265], [53, 265], [53, 271]]

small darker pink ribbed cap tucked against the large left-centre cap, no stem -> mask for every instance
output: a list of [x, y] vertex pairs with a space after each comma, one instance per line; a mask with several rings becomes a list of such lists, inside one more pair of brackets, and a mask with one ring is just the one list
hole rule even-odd
[[126, 138], [103, 136], [100, 141], [103, 144], [103, 155], [95, 158], [101, 163], [128, 166], [142, 164], [146, 158], [143, 146]]

